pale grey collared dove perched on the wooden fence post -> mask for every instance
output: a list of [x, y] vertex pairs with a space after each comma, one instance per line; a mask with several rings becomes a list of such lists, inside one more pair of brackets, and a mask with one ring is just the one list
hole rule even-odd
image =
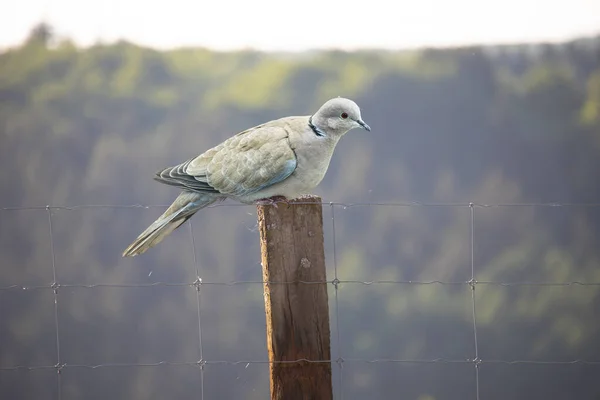
[[181, 189], [179, 196], [124, 251], [146, 252], [215, 202], [274, 204], [309, 194], [322, 181], [334, 149], [354, 128], [371, 131], [350, 99], [326, 101], [314, 114], [271, 120], [231, 136], [154, 179]]

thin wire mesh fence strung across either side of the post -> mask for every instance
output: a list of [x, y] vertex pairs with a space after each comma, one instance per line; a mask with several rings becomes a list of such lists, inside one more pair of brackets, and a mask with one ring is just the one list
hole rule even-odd
[[[304, 204], [311, 204], [305, 202]], [[319, 203], [321, 204], [321, 203]], [[199, 398], [204, 399], [204, 367], [206, 365], [250, 365], [250, 364], [270, 364], [268, 360], [206, 360], [204, 359], [203, 351], [203, 339], [202, 339], [202, 312], [201, 312], [201, 301], [202, 301], [202, 287], [216, 285], [216, 286], [236, 286], [245, 284], [331, 284], [334, 288], [334, 321], [336, 325], [336, 336], [337, 336], [337, 353], [336, 358], [331, 360], [307, 360], [299, 359], [294, 361], [276, 361], [277, 363], [297, 363], [297, 362], [308, 362], [308, 363], [331, 363], [338, 367], [338, 393], [339, 399], [343, 399], [343, 380], [344, 380], [344, 369], [345, 363], [399, 363], [399, 364], [471, 364], [473, 365], [475, 374], [475, 387], [473, 388], [474, 397], [480, 399], [479, 390], [479, 370], [480, 366], [484, 364], [504, 364], [504, 365], [515, 365], [515, 364], [531, 364], [531, 365], [600, 365], [600, 360], [585, 360], [585, 359], [574, 359], [568, 361], [553, 361], [553, 360], [501, 360], [501, 359], [485, 359], [479, 356], [479, 343], [477, 337], [477, 307], [475, 300], [476, 287], [479, 285], [489, 286], [549, 286], [549, 287], [564, 287], [564, 286], [600, 286], [600, 282], [582, 282], [582, 281], [567, 281], [567, 282], [536, 282], [536, 281], [519, 281], [519, 282], [496, 282], [496, 281], [479, 281], [476, 279], [477, 266], [475, 264], [475, 217], [476, 210], [478, 208], [506, 208], [506, 207], [600, 207], [600, 203], [498, 203], [498, 204], [477, 204], [477, 203], [420, 203], [420, 202], [394, 202], [394, 203], [339, 203], [330, 202], [322, 203], [324, 206], [329, 206], [331, 210], [331, 228], [332, 228], [332, 240], [333, 240], [333, 272], [334, 277], [331, 280], [326, 281], [290, 281], [290, 282], [264, 282], [261, 280], [247, 280], [247, 281], [229, 281], [229, 282], [211, 282], [204, 281], [201, 278], [202, 271], [199, 268], [198, 258], [196, 254], [195, 238], [192, 220], [188, 221], [190, 243], [193, 251], [193, 260], [195, 265], [196, 278], [191, 282], [152, 282], [152, 283], [94, 283], [94, 284], [77, 284], [77, 283], [60, 283], [57, 280], [56, 275], [56, 257], [54, 249], [54, 233], [53, 233], [53, 210], [80, 210], [80, 209], [94, 209], [94, 208], [166, 208], [168, 205], [74, 205], [74, 206], [31, 206], [31, 207], [0, 207], [0, 211], [27, 211], [27, 210], [46, 210], [48, 216], [48, 235], [50, 241], [51, 251], [51, 266], [53, 281], [47, 285], [8, 285], [0, 286], [0, 291], [37, 291], [37, 290], [51, 290], [54, 295], [54, 328], [56, 334], [56, 363], [54, 365], [14, 365], [8, 367], [0, 367], [2, 371], [34, 371], [34, 370], [56, 370], [56, 385], [58, 399], [62, 399], [62, 383], [61, 383], [61, 371], [65, 369], [101, 369], [101, 368], [132, 368], [132, 367], [168, 367], [168, 366], [191, 366], [199, 368], [200, 377], [200, 392]], [[209, 206], [214, 207], [244, 207], [247, 205], [243, 204], [228, 204], [221, 203]], [[452, 207], [452, 208], [468, 208], [469, 209], [469, 242], [470, 242], [470, 268], [471, 276], [466, 281], [441, 281], [441, 280], [344, 280], [338, 277], [338, 260], [337, 260], [337, 249], [336, 249], [336, 208], [349, 208], [349, 207]], [[471, 289], [471, 308], [472, 308], [472, 324], [473, 324], [473, 353], [471, 357], [464, 359], [393, 359], [393, 358], [373, 358], [373, 359], [362, 359], [362, 358], [349, 358], [344, 357], [341, 350], [341, 340], [343, 335], [340, 333], [340, 318], [339, 318], [339, 300], [338, 300], [338, 289], [340, 284], [359, 284], [359, 285], [441, 285], [441, 286], [468, 286]], [[197, 317], [198, 319], [198, 349], [197, 349], [197, 360], [195, 361], [158, 361], [149, 363], [101, 363], [101, 364], [72, 364], [64, 362], [61, 358], [61, 340], [59, 334], [59, 289], [61, 288], [83, 288], [83, 289], [94, 289], [94, 288], [153, 288], [153, 287], [190, 287], [196, 291], [197, 299]]]

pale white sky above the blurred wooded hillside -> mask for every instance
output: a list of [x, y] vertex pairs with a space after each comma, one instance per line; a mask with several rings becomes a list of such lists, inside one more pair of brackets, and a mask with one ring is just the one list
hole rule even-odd
[[399, 49], [561, 41], [600, 33], [600, 0], [11, 0], [0, 47], [40, 20], [80, 45]]

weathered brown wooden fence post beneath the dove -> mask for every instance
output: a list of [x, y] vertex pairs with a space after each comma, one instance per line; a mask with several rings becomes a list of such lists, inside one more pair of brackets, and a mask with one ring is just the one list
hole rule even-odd
[[321, 198], [259, 205], [258, 224], [271, 399], [332, 399], [329, 362], [278, 362], [331, 358]]

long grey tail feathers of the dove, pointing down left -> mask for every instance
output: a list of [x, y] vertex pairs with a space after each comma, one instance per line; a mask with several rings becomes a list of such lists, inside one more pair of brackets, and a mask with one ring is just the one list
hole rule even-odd
[[134, 257], [161, 242], [198, 210], [220, 200], [211, 194], [181, 192], [173, 204], [123, 251], [123, 257]]

